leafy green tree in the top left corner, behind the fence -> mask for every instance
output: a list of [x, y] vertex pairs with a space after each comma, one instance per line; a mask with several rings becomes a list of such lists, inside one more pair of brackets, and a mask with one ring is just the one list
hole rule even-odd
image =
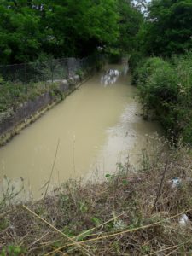
[[[0, 60], [2, 63], [30, 61], [40, 47], [38, 16], [26, 4], [4, 1], [0, 6]], [[27, 3], [27, 2], [26, 2]]]

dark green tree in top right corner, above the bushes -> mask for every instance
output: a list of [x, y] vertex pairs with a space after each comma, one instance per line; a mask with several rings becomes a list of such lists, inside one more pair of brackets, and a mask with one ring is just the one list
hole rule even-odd
[[192, 47], [191, 0], [152, 0], [138, 39], [145, 54], [172, 55]]

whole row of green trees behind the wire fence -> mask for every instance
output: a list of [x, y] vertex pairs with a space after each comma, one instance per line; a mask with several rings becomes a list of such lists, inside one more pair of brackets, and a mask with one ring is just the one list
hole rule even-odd
[[131, 49], [143, 21], [131, 0], [2, 0], [0, 64]]

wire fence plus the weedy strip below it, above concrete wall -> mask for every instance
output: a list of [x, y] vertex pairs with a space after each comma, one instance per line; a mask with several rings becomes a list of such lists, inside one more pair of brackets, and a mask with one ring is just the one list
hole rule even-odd
[[75, 75], [84, 79], [102, 59], [102, 55], [90, 55], [83, 59], [63, 58], [0, 66], [0, 121], [23, 102], [46, 92], [59, 95], [63, 80], [73, 81], [71, 78]]

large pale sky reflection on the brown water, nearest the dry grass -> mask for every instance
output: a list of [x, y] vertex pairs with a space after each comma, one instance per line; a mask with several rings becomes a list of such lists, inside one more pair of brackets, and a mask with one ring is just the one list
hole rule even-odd
[[[117, 171], [117, 163], [129, 163], [140, 167], [141, 154], [148, 143], [161, 134], [158, 123], [148, 122], [141, 117], [141, 106], [132, 97], [119, 116], [116, 125], [108, 127], [107, 139], [91, 164], [87, 179], [103, 179], [106, 173]], [[99, 170], [99, 172], [97, 172]]]

